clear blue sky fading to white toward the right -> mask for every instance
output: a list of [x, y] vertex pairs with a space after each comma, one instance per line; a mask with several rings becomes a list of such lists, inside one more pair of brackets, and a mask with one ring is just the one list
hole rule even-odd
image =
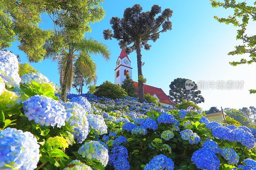
[[[175, 78], [188, 78], [197, 82], [198, 80], [217, 81], [217, 80], [243, 80], [243, 90], [201, 90], [205, 99], [204, 103], [199, 104], [204, 110], [212, 106], [241, 108], [255, 106], [256, 94], [249, 94], [249, 89], [256, 89], [255, 63], [251, 65], [240, 65], [233, 67], [228, 64], [230, 61], [240, 60], [242, 56], [228, 56], [228, 52], [234, 49], [234, 46], [241, 44], [236, 41], [237, 28], [233, 25], [218, 23], [213, 16], [227, 17], [232, 15], [232, 10], [222, 8], [212, 8], [207, 0], [105, 0], [102, 4], [106, 10], [106, 17], [99, 23], [91, 25], [92, 32], [86, 33], [86, 37], [92, 37], [95, 40], [102, 41], [111, 50], [111, 60], [107, 63], [100, 55], [92, 56], [97, 64], [98, 82], [108, 80], [114, 83], [114, 69], [117, 57], [121, 49], [115, 39], [105, 41], [102, 31], [111, 29], [109, 20], [111, 17], [122, 17], [124, 9], [132, 7], [134, 4], [140, 4], [143, 11], [151, 9], [153, 4], [158, 4], [165, 8], [173, 10], [172, 30], [160, 34], [156, 42], [149, 42], [152, 47], [149, 51], [142, 49], [142, 62], [145, 65], [142, 68], [143, 76], [147, 78], [148, 85], [162, 88], [166, 94], [169, 94], [169, 85]], [[52, 22], [45, 17], [40, 26], [44, 29], [52, 27]], [[255, 35], [255, 24], [249, 25], [248, 34]], [[12, 43], [9, 48], [13, 53], [19, 54], [22, 63], [28, 62], [26, 56], [17, 48], [18, 42]], [[137, 61], [136, 53], [129, 55], [131, 66], [133, 68], [133, 80], [137, 81]], [[40, 63], [32, 63], [33, 67], [47, 76], [54, 83], [59, 84], [59, 74], [57, 63], [51, 60], [45, 60]], [[87, 89], [84, 89], [87, 91]], [[72, 89], [71, 92], [75, 92]]]

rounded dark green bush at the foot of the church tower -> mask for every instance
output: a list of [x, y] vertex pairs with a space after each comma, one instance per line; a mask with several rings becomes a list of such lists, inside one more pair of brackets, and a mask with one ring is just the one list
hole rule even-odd
[[111, 99], [122, 99], [128, 95], [120, 85], [112, 84], [109, 81], [105, 81], [97, 86], [94, 94], [98, 97], [107, 97]]

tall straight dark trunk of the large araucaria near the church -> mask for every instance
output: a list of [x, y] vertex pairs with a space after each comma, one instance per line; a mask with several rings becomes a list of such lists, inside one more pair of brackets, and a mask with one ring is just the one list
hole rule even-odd
[[[138, 78], [142, 76], [142, 62], [141, 62], [141, 49], [140, 49], [140, 40], [136, 40], [136, 53], [137, 53], [137, 66], [138, 66]], [[139, 93], [139, 102], [144, 102], [144, 85], [143, 82], [138, 81], [138, 93]]]

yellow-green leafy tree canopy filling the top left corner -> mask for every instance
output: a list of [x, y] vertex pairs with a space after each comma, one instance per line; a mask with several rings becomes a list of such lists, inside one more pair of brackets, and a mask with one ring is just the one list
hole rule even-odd
[[39, 27], [43, 21], [41, 14], [46, 13], [51, 18], [55, 31], [69, 34], [70, 39], [81, 40], [85, 32], [91, 31], [88, 24], [105, 16], [101, 2], [103, 0], [1, 0], [0, 49], [10, 47], [11, 42], [18, 40], [19, 49], [29, 61], [39, 62], [46, 54], [44, 42], [54, 35], [53, 31]]

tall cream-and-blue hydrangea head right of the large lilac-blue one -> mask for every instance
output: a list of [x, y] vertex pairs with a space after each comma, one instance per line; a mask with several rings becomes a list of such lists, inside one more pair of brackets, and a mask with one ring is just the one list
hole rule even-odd
[[[75, 132], [71, 132], [78, 143], [84, 142], [89, 133], [89, 122], [85, 115], [86, 111], [78, 103], [67, 102], [63, 103], [66, 107], [67, 119], [69, 126]], [[76, 133], [77, 132], [77, 133]]]

